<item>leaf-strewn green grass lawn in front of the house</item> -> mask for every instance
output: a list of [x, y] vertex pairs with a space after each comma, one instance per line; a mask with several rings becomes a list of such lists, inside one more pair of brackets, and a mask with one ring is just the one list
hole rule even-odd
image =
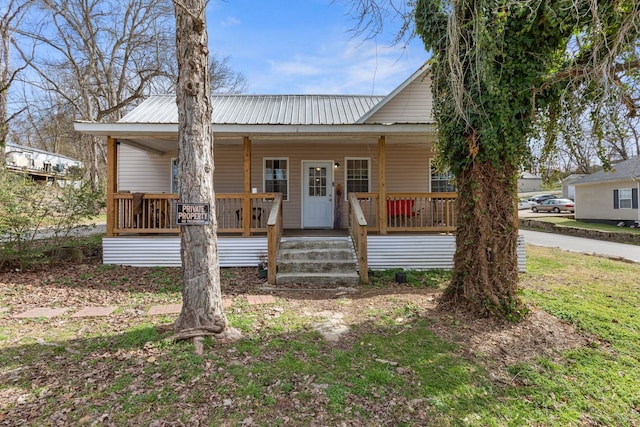
[[[30, 425], [640, 424], [640, 266], [534, 247], [527, 262], [523, 298], [591, 344], [508, 366], [508, 381], [436, 335], [417, 300], [388, 295], [380, 307], [354, 300], [364, 314], [331, 345], [310, 327], [316, 319], [300, 309], [300, 297], [279, 298], [278, 310], [234, 306], [228, 317], [244, 338], [208, 339], [202, 356], [170, 339], [169, 318], [105, 328], [104, 320], [3, 317], [0, 413]], [[87, 280], [116, 271], [100, 266]], [[159, 285], [149, 298], [179, 298], [172, 273], [147, 271]], [[419, 276], [407, 274], [432, 286], [447, 273]], [[127, 307], [139, 303], [135, 293], [124, 297]], [[29, 336], [30, 325], [54, 345]]]

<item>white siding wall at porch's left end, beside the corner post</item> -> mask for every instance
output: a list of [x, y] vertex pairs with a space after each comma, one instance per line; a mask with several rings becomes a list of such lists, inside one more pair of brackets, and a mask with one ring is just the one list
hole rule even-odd
[[118, 191], [171, 192], [171, 158], [118, 144]]

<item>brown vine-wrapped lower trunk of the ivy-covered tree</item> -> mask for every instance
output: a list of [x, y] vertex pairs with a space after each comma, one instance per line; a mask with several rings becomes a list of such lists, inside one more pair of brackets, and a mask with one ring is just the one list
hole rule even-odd
[[443, 305], [510, 320], [526, 314], [517, 295], [516, 173], [508, 164], [473, 161], [456, 177], [456, 254]]

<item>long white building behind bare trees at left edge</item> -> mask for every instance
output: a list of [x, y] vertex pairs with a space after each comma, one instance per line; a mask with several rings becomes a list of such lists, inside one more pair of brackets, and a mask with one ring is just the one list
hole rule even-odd
[[5, 164], [9, 171], [27, 174], [34, 181], [56, 181], [61, 186], [77, 184], [84, 168], [71, 157], [11, 142], [5, 146]]

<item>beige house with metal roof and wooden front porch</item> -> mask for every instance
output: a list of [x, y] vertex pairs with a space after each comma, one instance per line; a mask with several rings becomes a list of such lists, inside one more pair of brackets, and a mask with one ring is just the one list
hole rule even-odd
[[[352, 242], [362, 281], [368, 269], [453, 265], [456, 193], [431, 167], [426, 66], [387, 96], [221, 95], [212, 105], [221, 266], [266, 256], [275, 283], [291, 234]], [[107, 140], [104, 262], [180, 265], [175, 97], [75, 128]]]

